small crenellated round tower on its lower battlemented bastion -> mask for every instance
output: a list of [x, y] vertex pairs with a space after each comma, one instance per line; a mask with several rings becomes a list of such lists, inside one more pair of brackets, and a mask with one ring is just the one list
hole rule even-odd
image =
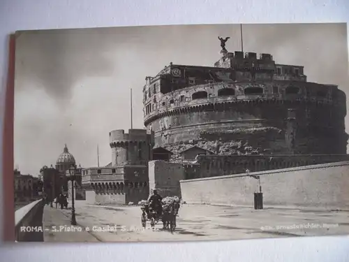
[[145, 129], [109, 133], [112, 162], [82, 170], [88, 203], [138, 203], [149, 196], [148, 162], [154, 134]]

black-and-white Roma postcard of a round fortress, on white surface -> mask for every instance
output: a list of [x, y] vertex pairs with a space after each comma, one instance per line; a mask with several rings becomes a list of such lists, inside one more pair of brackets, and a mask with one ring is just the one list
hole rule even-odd
[[15, 41], [18, 242], [349, 233], [346, 24]]

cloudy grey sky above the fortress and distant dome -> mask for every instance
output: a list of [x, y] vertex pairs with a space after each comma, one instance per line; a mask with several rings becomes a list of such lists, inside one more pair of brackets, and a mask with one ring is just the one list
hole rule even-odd
[[[239, 24], [20, 31], [15, 60], [15, 168], [37, 176], [64, 144], [77, 165], [112, 161], [109, 132], [143, 129], [142, 87], [164, 66], [213, 66], [218, 36], [241, 50]], [[244, 24], [244, 52], [304, 66], [309, 82], [339, 85], [349, 96], [346, 24]], [[349, 133], [349, 116], [346, 117]]]

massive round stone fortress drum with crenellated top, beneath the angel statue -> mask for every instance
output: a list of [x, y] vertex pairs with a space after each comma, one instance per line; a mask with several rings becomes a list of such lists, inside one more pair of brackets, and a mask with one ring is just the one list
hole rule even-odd
[[170, 63], [143, 88], [156, 147], [214, 154], [346, 154], [346, 94], [271, 54], [221, 51], [213, 67]]

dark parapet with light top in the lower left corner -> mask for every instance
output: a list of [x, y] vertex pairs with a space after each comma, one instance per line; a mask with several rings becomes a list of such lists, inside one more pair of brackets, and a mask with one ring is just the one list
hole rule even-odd
[[43, 199], [31, 202], [15, 211], [15, 240], [43, 242]]

